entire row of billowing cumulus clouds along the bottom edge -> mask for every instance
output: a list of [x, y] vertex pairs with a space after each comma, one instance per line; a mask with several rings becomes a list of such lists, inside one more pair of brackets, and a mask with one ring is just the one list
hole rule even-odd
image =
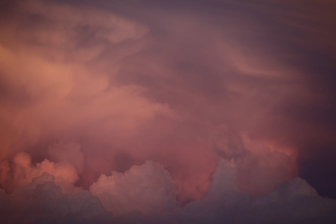
[[237, 185], [240, 166], [241, 159], [219, 159], [208, 191], [200, 200], [184, 207], [179, 207], [175, 200], [177, 186], [169, 172], [153, 161], [133, 166], [125, 173], [101, 175], [90, 191], [75, 194], [62, 193], [54, 176], [44, 172], [11, 194], [1, 189], [0, 214], [10, 223], [18, 220], [129, 224], [336, 221], [336, 200], [321, 197], [302, 178], [293, 178], [277, 184], [269, 193], [254, 196]]

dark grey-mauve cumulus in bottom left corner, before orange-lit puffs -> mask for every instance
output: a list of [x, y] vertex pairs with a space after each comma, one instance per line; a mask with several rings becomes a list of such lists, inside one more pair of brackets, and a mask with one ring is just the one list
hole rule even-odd
[[[71, 221], [101, 215], [100, 200], [89, 191], [64, 194], [55, 177], [44, 172], [11, 194], [0, 194], [0, 217], [4, 223], [48, 223], [50, 217]], [[56, 219], [57, 219], [56, 218]]]

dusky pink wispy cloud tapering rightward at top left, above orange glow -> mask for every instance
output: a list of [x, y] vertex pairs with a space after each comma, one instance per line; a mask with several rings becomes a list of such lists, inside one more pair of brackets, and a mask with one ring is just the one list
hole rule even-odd
[[[15, 16], [6, 23], [12, 27], [2, 27], [7, 31], [2, 38], [8, 40], [18, 34], [16, 41], [29, 43], [21, 45], [21, 50], [43, 53], [47, 48], [49, 51], [43, 54], [57, 61], [90, 61], [111, 44], [136, 40], [149, 32], [148, 27], [122, 15], [71, 4], [30, 0], [17, 2], [12, 10]], [[24, 24], [20, 23], [22, 19]]]

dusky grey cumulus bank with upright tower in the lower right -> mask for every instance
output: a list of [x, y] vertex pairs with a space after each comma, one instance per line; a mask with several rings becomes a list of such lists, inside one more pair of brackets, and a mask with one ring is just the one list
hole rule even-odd
[[336, 200], [321, 197], [302, 178], [277, 184], [253, 196], [236, 185], [241, 160], [218, 161], [209, 191], [176, 213], [177, 222], [194, 223], [334, 223]]

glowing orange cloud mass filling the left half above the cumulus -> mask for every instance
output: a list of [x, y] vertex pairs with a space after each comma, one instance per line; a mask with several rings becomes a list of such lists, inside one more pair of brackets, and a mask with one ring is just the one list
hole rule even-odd
[[[33, 160], [69, 162], [89, 187], [111, 171], [120, 151], [148, 159], [137, 156], [134, 139], [144, 125], [164, 126], [174, 114], [168, 104], [145, 97], [146, 88], [116, 85], [113, 77], [121, 60], [142, 50], [149, 29], [67, 3], [10, 5], [12, 16], [0, 25], [0, 160], [28, 151]], [[111, 52], [108, 61], [101, 56]], [[81, 152], [68, 142], [80, 144]]]

